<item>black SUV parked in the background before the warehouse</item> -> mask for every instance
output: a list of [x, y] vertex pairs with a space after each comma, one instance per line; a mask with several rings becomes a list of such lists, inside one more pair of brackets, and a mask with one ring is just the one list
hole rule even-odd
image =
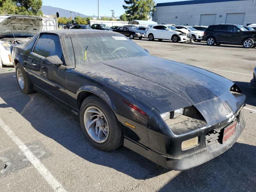
[[238, 44], [244, 48], [252, 48], [256, 45], [256, 31], [248, 31], [243, 26], [234, 24], [210, 25], [204, 31], [203, 40], [208, 45]]

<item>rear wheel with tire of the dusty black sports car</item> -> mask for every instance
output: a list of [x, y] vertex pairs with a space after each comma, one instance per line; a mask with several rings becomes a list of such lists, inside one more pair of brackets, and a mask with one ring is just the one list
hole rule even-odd
[[32, 89], [32, 83], [30, 82], [24, 68], [20, 63], [17, 63], [16, 65], [16, 79], [20, 90], [24, 94], [31, 94], [34, 92], [34, 90]]

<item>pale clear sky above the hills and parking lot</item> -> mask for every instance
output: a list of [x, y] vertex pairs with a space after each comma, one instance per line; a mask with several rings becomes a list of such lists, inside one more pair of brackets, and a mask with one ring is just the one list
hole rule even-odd
[[[42, 0], [43, 5], [58, 7], [79, 12], [85, 15], [98, 15], [98, 0]], [[156, 3], [176, 2], [182, 0], [154, 0]], [[123, 0], [99, 0], [100, 16], [111, 16], [110, 10], [115, 10], [115, 16], [124, 13]]]

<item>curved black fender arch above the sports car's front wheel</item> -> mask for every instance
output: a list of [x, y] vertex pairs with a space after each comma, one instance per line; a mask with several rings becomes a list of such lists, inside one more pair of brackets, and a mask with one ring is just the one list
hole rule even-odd
[[98, 96], [102, 100], [104, 100], [112, 110], [116, 111], [116, 106], [113, 102], [113, 100], [108, 96], [106, 92], [104, 92], [102, 89], [96, 87], [96, 86], [82, 86], [77, 91], [77, 104], [78, 108], [80, 109], [82, 102], [91, 95]]

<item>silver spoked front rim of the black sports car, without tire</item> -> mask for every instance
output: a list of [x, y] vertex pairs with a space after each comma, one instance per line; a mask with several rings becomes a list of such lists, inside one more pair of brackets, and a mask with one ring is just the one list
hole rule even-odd
[[109, 127], [106, 116], [95, 107], [88, 107], [84, 112], [84, 125], [86, 132], [95, 142], [103, 143], [109, 135]]

